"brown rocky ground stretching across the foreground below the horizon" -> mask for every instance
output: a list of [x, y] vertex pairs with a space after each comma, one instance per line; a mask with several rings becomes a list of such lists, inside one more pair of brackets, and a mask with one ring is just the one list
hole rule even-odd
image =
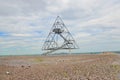
[[0, 57], [0, 80], [120, 80], [120, 55]]

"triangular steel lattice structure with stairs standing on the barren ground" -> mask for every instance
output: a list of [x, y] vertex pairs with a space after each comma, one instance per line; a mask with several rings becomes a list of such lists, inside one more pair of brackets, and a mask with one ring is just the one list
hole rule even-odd
[[75, 40], [67, 27], [63, 23], [62, 19], [57, 16], [53, 27], [50, 30], [48, 37], [46, 38], [42, 50], [49, 50], [45, 54], [49, 54], [59, 49], [76, 49], [78, 48]]

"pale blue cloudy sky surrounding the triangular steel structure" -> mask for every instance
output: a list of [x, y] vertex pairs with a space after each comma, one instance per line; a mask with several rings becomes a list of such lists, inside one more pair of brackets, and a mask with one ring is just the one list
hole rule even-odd
[[42, 54], [58, 15], [76, 52], [120, 51], [120, 0], [0, 0], [0, 55]]

